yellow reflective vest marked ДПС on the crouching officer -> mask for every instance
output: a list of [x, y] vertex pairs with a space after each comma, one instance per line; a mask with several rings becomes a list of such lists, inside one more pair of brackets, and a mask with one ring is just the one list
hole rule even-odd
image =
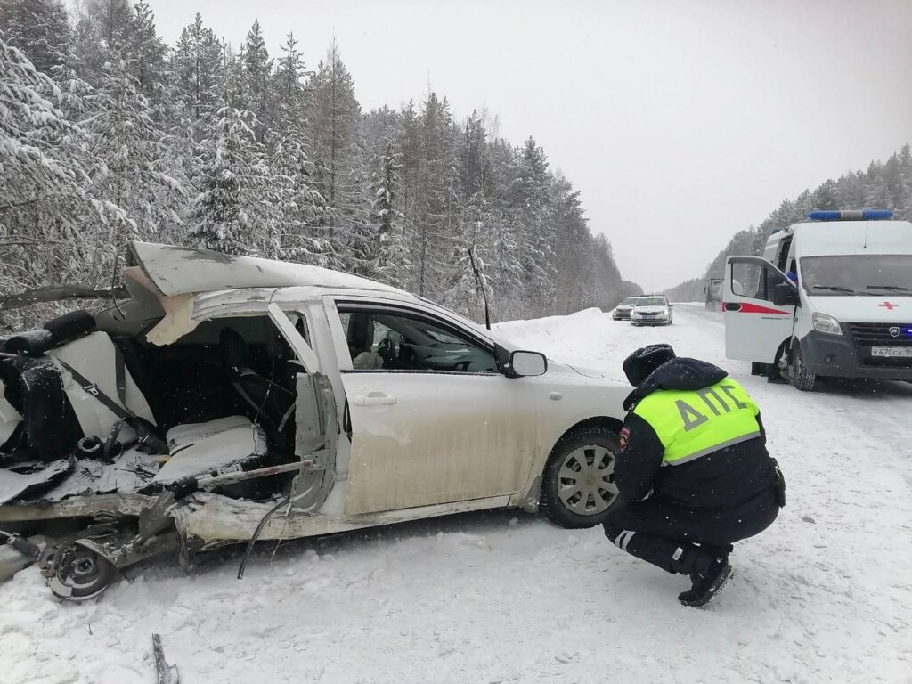
[[657, 389], [633, 412], [665, 447], [662, 465], [680, 465], [732, 444], [760, 437], [753, 399], [731, 378], [705, 389]]

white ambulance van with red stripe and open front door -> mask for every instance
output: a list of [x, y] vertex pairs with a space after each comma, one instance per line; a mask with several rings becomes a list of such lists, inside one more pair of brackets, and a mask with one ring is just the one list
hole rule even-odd
[[912, 381], [912, 223], [881, 210], [820, 211], [731, 256], [725, 354], [814, 389], [818, 378]]

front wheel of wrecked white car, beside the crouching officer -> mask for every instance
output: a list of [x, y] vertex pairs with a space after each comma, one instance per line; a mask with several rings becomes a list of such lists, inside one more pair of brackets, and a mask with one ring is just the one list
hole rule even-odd
[[544, 516], [567, 529], [605, 522], [617, 502], [617, 450], [617, 434], [602, 426], [575, 430], [561, 438], [542, 475], [540, 501]]

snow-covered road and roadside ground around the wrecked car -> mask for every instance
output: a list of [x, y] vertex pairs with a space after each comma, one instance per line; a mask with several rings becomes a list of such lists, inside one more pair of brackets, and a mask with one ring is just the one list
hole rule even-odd
[[480, 513], [264, 549], [241, 582], [236, 558], [155, 566], [87, 604], [26, 570], [0, 586], [0, 681], [153, 682], [153, 632], [183, 684], [912, 681], [912, 386], [767, 385], [725, 360], [718, 315], [675, 312], [670, 328], [595, 311], [501, 327], [618, 377], [668, 341], [761, 404], [788, 506], [735, 547], [707, 608], [599, 529]]

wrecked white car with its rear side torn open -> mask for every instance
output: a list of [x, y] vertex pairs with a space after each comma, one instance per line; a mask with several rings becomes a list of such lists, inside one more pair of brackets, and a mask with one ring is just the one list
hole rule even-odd
[[357, 276], [131, 254], [129, 300], [0, 349], [0, 529], [57, 596], [156, 554], [613, 503], [625, 384]]

